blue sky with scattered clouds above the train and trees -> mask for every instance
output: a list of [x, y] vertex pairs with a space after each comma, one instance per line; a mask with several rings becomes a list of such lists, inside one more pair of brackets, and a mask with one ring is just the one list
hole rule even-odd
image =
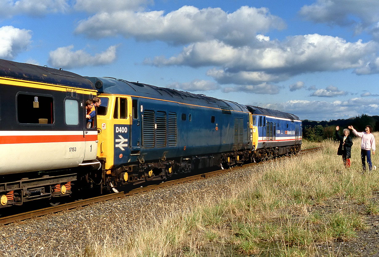
[[0, 0], [0, 58], [258, 105], [379, 115], [378, 0]]

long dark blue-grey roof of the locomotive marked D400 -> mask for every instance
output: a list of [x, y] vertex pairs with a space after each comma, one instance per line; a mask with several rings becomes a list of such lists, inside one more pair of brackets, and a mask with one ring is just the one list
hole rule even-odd
[[218, 107], [226, 113], [230, 112], [231, 110], [247, 111], [244, 105], [232, 101], [208, 97], [204, 94], [193, 94], [171, 88], [156, 87], [139, 82], [130, 82], [123, 79], [115, 79], [113, 77], [87, 78], [95, 84], [95, 87], [99, 93], [126, 94], [131, 96], [162, 99], [186, 104], [201, 104], [203, 106], [212, 107], [215, 107], [214, 105], [218, 105]]

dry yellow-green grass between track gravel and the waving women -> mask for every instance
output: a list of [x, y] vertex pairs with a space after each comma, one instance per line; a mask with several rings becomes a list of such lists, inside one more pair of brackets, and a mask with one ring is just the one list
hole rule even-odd
[[324, 141], [322, 147], [267, 162], [222, 197], [165, 210], [159, 221], [152, 218], [118, 239], [118, 246], [92, 241], [83, 256], [318, 256], [318, 245], [365, 229], [362, 210], [377, 214], [371, 196], [379, 186], [379, 172], [361, 174], [360, 139], [354, 139], [349, 169], [336, 155], [337, 143]]

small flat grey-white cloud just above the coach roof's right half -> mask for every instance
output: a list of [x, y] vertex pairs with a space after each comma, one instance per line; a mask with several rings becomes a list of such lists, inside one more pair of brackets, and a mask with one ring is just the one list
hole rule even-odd
[[56, 68], [74, 68], [112, 63], [116, 59], [116, 45], [104, 52], [91, 55], [84, 50], [72, 51], [73, 45], [57, 48], [49, 53], [48, 62]]

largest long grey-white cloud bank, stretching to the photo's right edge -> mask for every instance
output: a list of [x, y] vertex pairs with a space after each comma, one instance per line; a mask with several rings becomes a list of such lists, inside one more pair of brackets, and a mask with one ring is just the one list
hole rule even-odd
[[[232, 46], [219, 40], [191, 43], [171, 57], [145, 59], [155, 66], [215, 66], [208, 71], [220, 84], [260, 84], [285, 81], [290, 76], [317, 71], [358, 69], [377, 53], [378, 44], [346, 42], [340, 37], [310, 34], [262, 42], [261, 47]], [[221, 71], [223, 70], [223, 71]], [[236, 79], [238, 78], [238, 79]]]

